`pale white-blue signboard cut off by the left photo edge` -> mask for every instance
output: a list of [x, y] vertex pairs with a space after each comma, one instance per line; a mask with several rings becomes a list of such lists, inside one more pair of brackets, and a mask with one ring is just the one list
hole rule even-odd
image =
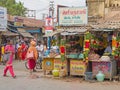
[[7, 9], [0, 7], [0, 31], [5, 31], [7, 28]]

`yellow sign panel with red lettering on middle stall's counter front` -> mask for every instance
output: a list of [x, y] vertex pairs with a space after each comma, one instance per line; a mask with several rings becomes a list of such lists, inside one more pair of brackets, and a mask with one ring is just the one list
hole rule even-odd
[[70, 74], [71, 75], [84, 75], [86, 71], [86, 64], [83, 61], [71, 60], [70, 61]]

